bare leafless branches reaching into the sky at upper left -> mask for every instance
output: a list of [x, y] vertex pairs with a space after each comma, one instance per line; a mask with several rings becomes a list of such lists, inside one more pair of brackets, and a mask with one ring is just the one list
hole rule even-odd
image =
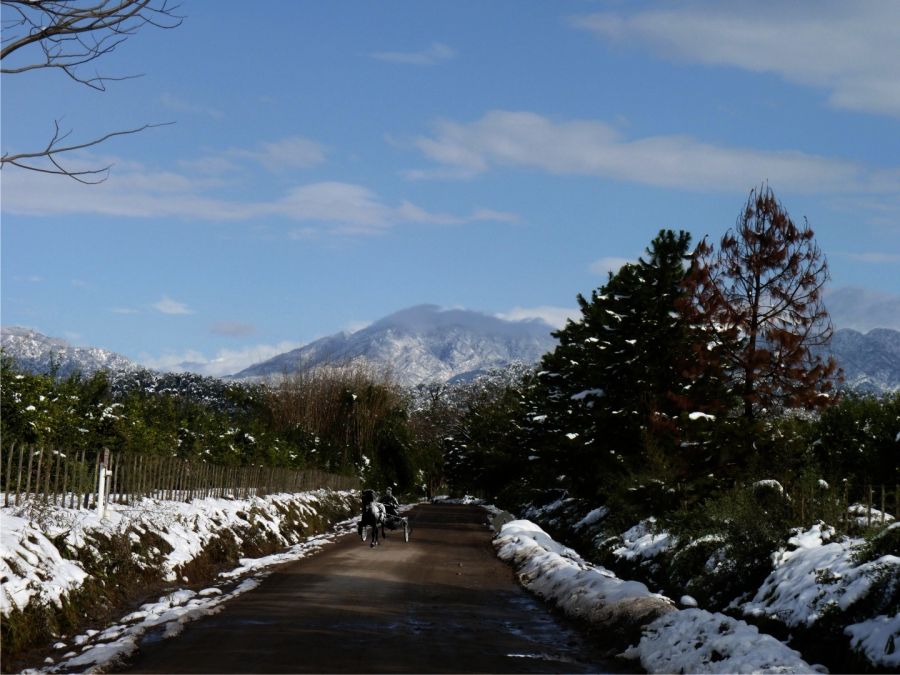
[[[0, 73], [4, 76], [51, 69], [65, 73], [78, 84], [106, 91], [108, 82], [136, 75], [101, 75], [86, 66], [116, 50], [145, 26], [175, 28], [183, 17], [169, 0], [3, 0], [3, 40]], [[134, 134], [158, 124], [112, 131], [81, 142], [69, 142], [70, 131], [53, 123], [54, 131], [43, 148], [3, 152], [0, 168], [7, 164], [41, 173], [58, 174], [84, 183], [105, 179], [109, 166], [67, 168], [60, 155], [82, 150], [115, 136]]]

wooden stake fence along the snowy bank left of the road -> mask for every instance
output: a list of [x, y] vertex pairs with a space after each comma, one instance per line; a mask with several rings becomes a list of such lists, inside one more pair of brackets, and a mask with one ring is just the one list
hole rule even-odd
[[161, 455], [60, 450], [12, 443], [0, 453], [3, 504], [29, 499], [70, 508], [94, 508], [100, 471], [112, 503], [131, 504], [143, 497], [190, 501], [204, 497], [245, 499], [275, 492], [319, 488], [359, 488], [354, 476], [315, 469], [296, 471], [269, 466], [221, 466], [202, 460]]

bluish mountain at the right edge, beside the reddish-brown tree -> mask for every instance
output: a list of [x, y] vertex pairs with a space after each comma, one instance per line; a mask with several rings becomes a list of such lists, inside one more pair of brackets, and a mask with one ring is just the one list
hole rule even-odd
[[831, 353], [844, 370], [844, 387], [883, 393], [900, 391], [900, 331], [850, 328], [834, 332]]

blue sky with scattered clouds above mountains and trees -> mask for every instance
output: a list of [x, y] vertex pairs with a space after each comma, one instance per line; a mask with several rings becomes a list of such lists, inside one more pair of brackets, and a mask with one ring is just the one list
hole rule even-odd
[[900, 3], [180, 13], [92, 66], [143, 74], [105, 92], [3, 77], [4, 153], [174, 122], [68, 158], [100, 185], [3, 170], [4, 325], [226, 374], [420, 303], [558, 323], [768, 181], [838, 326], [900, 328]]

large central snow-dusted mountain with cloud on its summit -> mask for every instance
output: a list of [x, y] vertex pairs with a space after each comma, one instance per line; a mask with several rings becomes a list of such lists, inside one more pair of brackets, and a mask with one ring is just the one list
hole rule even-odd
[[235, 379], [266, 378], [316, 366], [367, 362], [400, 384], [474, 377], [511, 363], [537, 363], [553, 349], [543, 321], [506, 321], [461, 309], [420, 305], [355, 333], [338, 333], [256, 364]]

